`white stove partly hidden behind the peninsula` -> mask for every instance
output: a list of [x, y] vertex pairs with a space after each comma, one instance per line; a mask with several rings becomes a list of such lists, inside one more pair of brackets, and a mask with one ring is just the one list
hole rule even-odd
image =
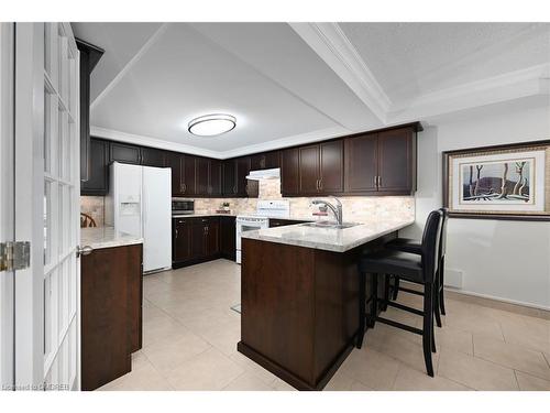
[[237, 216], [237, 263], [241, 263], [241, 235], [244, 231], [270, 228], [270, 218], [288, 218], [290, 203], [285, 199], [258, 200], [256, 214]]

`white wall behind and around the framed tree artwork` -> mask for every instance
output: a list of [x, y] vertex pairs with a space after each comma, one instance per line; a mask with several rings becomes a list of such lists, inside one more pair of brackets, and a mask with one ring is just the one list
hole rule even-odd
[[[416, 224], [442, 205], [442, 151], [550, 139], [550, 105], [501, 108], [430, 122], [418, 138]], [[464, 292], [550, 309], [550, 222], [449, 220], [447, 273]]]

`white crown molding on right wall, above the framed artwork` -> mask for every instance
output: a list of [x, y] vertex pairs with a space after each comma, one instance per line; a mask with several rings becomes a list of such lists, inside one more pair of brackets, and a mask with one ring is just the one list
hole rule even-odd
[[400, 123], [529, 96], [549, 95], [549, 91], [550, 64], [541, 64], [426, 94], [407, 102], [394, 105], [387, 115], [387, 120], [392, 123]]

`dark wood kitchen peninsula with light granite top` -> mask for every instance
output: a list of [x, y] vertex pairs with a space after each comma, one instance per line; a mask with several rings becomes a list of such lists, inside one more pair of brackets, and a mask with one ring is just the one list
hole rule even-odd
[[321, 390], [355, 344], [361, 253], [413, 221], [243, 233], [239, 351], [299, 390]]

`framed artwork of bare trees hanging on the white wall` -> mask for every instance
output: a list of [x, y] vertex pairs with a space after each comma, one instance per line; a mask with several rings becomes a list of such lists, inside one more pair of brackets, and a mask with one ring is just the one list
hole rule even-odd
[[550, 220], [550, 141], [443, 152], [443, 206], [455, 218]]

